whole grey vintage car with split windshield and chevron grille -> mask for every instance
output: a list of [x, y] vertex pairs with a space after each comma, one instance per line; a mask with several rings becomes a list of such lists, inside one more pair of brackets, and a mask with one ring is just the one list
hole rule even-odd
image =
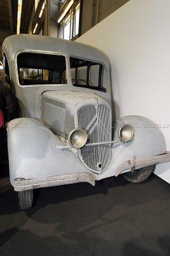
[[120, 173], [142, 182], [155, 164], [170, 161], [151, 120], [115, 120], [110, 61], [103, 52], [39, 35], [9, 36], [2, 50], [18, 105], [8, 124], [8, 156], [20, 209], [32, 206], [36, 188], [94, 186]]

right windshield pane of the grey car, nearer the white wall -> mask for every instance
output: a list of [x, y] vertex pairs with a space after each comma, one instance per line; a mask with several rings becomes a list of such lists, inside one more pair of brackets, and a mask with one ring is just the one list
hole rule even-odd
[[70, 67], [71, 79], [74, 86], [106, 92], [106, 69], [101, 63], [71, 57]]

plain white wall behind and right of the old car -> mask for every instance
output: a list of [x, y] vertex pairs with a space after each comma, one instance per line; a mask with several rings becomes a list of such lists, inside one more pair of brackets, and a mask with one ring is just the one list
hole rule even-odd
[[[117, 117], [151, 118], [170, 150], [170, 1], [131, 0], [78, 42], [110, 56]], [[170, 183], [170, 163], [155, 173]]]

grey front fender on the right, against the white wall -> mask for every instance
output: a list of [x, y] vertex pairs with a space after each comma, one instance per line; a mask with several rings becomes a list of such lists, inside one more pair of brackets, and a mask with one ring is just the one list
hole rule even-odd
[[114, 141], [119, 141], [118, 129], [123, 124], [133, 125], [134, 138], [129, 143], [120, 142], [113, 144], [111, 148], [111, 161], [108, 169], [101, 175], [102, 179], [116, 175], [119, 166], [131, 160], [134, 156], [142, 159], [166, 153], [164, 136], [159, 129], [159, 125], [155, 124], [152, 120], [143, 116], [123, 116], [118, 118], [114, 127]]

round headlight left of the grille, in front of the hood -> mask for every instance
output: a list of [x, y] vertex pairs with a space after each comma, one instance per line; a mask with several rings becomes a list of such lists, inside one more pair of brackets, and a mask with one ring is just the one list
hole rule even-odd
[[68, 136], [69, 145], [73, 148], [81, 148], [87, 142], [87, 132], [83, 129], [74, 129]]

